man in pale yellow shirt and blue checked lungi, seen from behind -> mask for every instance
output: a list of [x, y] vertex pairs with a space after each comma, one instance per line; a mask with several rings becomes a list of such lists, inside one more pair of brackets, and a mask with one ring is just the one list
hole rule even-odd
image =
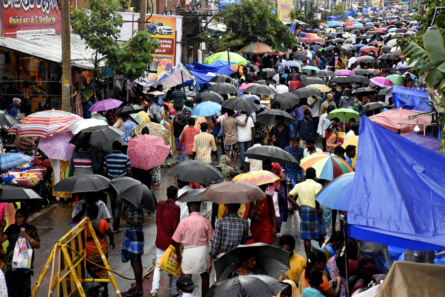
[[[289, 192], [287, 199], [298, 208], [300, 213], [300, 238], [305, 240], [306, 257], [311, 256], [311, 240], [323, 245], [326, 229], [324, 226], [323, 210], [315, 201], [315, 196], [321, 191], [321, 185], [315, 181], [315, 169], [309, 167], [306, 170], [306, 181], [296, 184]], [[298, 196], [301, 206], [295, 201]]]

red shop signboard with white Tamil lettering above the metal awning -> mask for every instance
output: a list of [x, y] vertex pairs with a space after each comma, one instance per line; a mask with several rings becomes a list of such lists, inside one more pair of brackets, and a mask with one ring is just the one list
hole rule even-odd
[[[58, 0], [1, 0], [0, 37], [60, 34]], [[76, 0], [71, 5], [77, 7]]]

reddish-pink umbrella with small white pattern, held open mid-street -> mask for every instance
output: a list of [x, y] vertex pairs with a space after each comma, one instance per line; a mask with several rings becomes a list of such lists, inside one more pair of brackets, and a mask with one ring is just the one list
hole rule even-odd
[[148, 170], [164, 163], [169, 151], [164, 139], [145, 134], [128, 142], [127, 155], [132, 167]]

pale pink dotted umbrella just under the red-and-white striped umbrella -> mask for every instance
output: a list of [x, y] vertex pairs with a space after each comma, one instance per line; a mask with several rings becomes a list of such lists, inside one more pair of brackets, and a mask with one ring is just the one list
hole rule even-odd
[[53, 136], [41, 137], [39, 148], [49, 159], [68, 161], [74, 151], [74, 145], [69, 143], [73, 137], [71, 133], [56, 133]]

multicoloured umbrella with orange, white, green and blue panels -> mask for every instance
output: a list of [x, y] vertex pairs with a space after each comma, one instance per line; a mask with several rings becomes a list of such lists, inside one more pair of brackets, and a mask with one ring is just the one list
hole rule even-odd
[[326, 152], [314, 152], [300, 162], [300, 167], [304, 170], [312, 167], [317, 173], [317, 178], [328, 181], [344, 173], [354, 172], [354, 169], [341, 157]]

